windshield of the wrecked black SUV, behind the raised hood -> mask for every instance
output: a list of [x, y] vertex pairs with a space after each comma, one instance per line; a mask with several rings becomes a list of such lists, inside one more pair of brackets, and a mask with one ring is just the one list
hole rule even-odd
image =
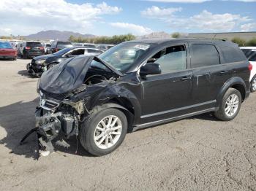
[[[144, 52], [148, 50], [151, 44], [138, 43], [138, 42], [128, 42], [123, 44], [118, 44], [112, 47], [110, 50], [103, 52], [98, 57], [110, 64], [113, 68], [124, 73], [129, 66], [132, 66]], [[105, 69], [102, 64], [97, 61], [91, 63], [92, 67], [98, 67]]]

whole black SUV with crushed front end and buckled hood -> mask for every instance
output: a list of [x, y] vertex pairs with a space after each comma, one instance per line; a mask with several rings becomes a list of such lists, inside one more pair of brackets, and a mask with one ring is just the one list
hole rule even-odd
[[140, 128], [206, 112], [233, 120], [249, 96], [251, 70], [237, 44], [225, 40], [130, 41], [98, 57], [69, 58], [39, 79], [39, 147], [50, 153], [78, 136], [101, 156]]

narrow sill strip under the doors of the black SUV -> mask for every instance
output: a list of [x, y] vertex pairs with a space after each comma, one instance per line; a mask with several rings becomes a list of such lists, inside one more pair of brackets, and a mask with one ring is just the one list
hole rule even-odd
[[181, 119], [184, 119], [184, 118], [187, 118], [187, 117], [192, 117], [192, 116], [197, 115], [197, 114], [214, 112], [216, 110], [217, 110], [217, 108], [213, 107], [213, 108], [210, 108], [210, 109], [204, 109], [204, 110], [201, 110], [201, 111], [198, 111], [198, 112], [192, 112], [192, 113], [189, 113], [189, 114], [180, 115], [178, 117], [172, 117], [172, 118], [168, 118], [168, 119], [165, 119], [165, 120], [147, 122], [147, 123], [143, 123], [143, 124], [140, 124], [140, 125], [135, 125], [133, 127], [132, 131], [136, 131], [136, 130], [139, 130], [141, 128], [148, 128], [148, 127], [151, 127], [151, 126], [154, 126], [154, 125], [160, 125], [160, 124], [166, 123], [166, 122], [181, 120]]

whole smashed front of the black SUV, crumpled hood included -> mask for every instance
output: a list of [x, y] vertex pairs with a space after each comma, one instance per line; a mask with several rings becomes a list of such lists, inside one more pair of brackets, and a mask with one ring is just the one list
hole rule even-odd
[[[74, 61], [72, 59], [45, 72], [39, 79], [40, 99], [35, 112], [36, 128], [31, 130], [20, 144], [31, 133], [36, 132], [42, 155], [53, 152], [53, 144], [69, 147], [63, 138], [78, 136], [80, 123], [86, 120], [91, 112], [89, 99], [94, 94], [87, 90], [102, 89], [120, 77], [110, 69], [104, 71], [89, 67], [93, 58], [78, 57]], [[72, 67], [69, 67], [69, 64]], [[47, 80], [49, 78], [50, 82]]]

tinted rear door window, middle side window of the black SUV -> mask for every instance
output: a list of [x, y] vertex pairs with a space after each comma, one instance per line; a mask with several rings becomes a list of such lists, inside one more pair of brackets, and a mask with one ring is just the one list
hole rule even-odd
[[214, 45], [192, 44], [190, 46], [190, 52], [192, 68], [214, 66], [220, 63], [219, 52]]

